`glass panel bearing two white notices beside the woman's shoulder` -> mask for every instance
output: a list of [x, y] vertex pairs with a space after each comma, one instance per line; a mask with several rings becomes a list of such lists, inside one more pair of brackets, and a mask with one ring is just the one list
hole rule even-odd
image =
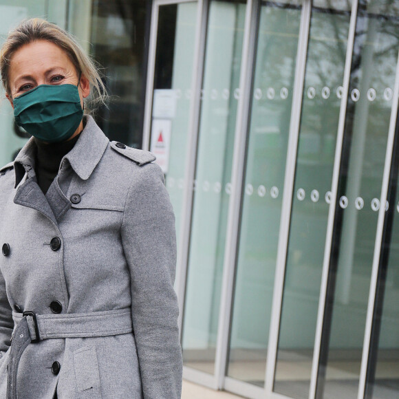
[[190, 127], [197, 3], [160, 6], [155, 56], [151, 151], [166, 176], [175, 210], [177, 243]]

